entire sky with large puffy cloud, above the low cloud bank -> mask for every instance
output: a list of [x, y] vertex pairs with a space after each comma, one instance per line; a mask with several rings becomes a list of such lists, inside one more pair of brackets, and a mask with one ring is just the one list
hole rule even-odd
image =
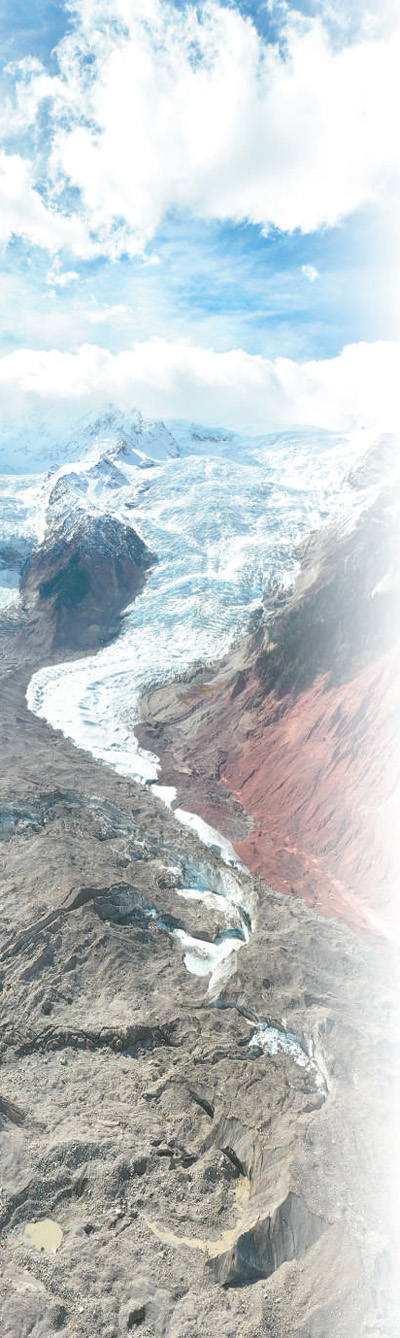
[[5, 3], [0, 353], [397, 340], [397, 51], [391, 0]]

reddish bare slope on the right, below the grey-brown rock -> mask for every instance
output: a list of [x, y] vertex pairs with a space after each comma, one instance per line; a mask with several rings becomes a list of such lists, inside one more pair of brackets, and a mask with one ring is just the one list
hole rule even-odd
[[253, 872], [322, 915], [388, 935], [397, 929], [395, 669], [383, 657], [336, 688], [321, 676], [281, 702], [272, 693], [221, 776], [256, 819], [237, 844]]

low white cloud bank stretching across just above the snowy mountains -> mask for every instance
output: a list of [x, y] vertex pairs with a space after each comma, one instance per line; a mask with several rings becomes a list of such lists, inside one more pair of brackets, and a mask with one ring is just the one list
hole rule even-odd
[[3, 432], [11, 416], [96, 411], [106, 400], [146, 416], [190, 417], [268, 431], [304, 424], [399, 429], [400, 344], [351, 344], [321, 361], [268, 360], [242, 349], [162, 339], [122, 353], [84, 344], [75, 353], [19, 349], [0, 360]]

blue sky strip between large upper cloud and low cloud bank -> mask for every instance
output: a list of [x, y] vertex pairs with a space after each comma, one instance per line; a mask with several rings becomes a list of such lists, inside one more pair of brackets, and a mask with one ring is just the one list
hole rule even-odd
[[[74, 258], [76, 278], [66, 288], [52, 285], [47, 254], [36, 248], [27, 257], [15, 241], [3, 254], [8, 320], [4, 310], [1, 347], [24, 345], [28, 334], [41, 348], [45, 334], [44, 344], [55, 339], [70, 348], [102, 334], [118, 349], [127, 339], [190, 332], [218, 349], [332, 357], [344, 344], [396, 333], [385, 302], [391, 273], [377, 237], [379, 221], [363, 210], [316, 237], [274, 231], [265, 238], [254, 225], [171, 218], [144, 260]], [[302, 266], [316, 268], [317, 277]]]

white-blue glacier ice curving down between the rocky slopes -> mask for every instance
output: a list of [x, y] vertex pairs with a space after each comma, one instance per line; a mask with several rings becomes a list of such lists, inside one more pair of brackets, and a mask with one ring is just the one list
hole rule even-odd
[[262, 598], [268, 605], [269, 587], [292, 583], [296, 545], [337, 508], [360, 454], [359, 442], [316, 431], [246, 440], [182, 423], [159, 427], [157, 450], [157, 431], [146, 436], [140, 428], [138, 439], [151, 447], [153, 464], [146, 455], [138, 464], [138, 450], [115, 450], [114, 429], [111, 440], [106, 431], [91, 435], [82, 456], [70, 444], [66, 466], [58, 452], [48, 483], [9, 472], [5, 480], [8, 531], [40, 535], [43, 495], [64, 474], [76, 500], [131, 524], [158, 557], [118, 641], [40, 669], [28, 689], [32, 710], [99, 760], [144, 780], [157, 779], [158, 761], [134, 733], [143, 686], [221, 657]]

